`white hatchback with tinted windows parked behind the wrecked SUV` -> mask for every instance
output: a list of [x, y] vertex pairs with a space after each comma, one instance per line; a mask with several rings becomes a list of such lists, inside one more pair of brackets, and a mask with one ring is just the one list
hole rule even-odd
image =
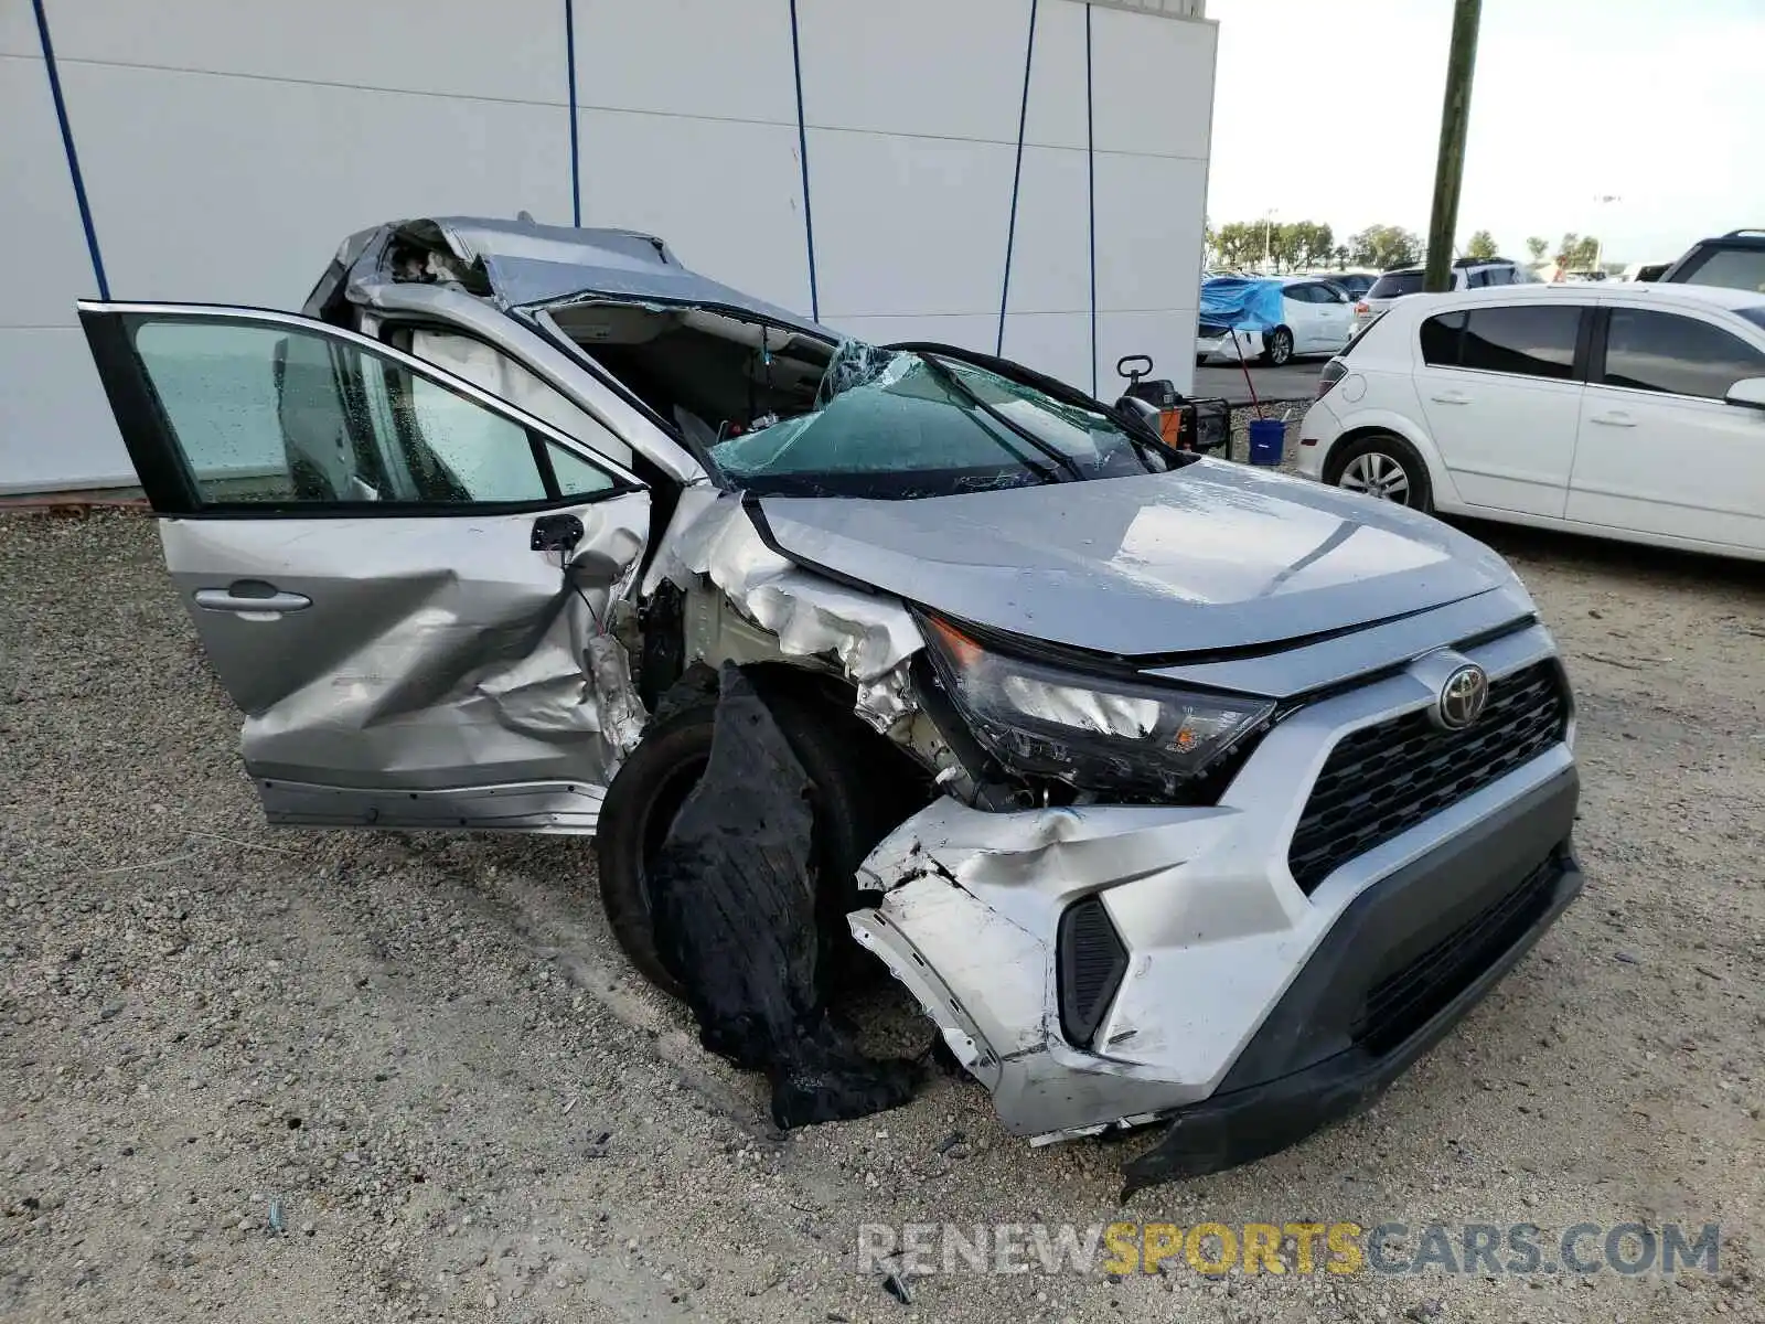
[[1765, 295], [1416, 295], [1324, 365], [1311, 478], [1419, 510], [1765, 560]]

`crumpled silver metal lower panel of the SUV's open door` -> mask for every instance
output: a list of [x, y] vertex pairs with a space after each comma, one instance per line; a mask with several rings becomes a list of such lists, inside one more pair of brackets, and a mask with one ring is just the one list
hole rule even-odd
[[[503, 817], [517, 787], [531, 800], [535, 784], [605, 784], [634, 740], [618, 722], [607, 731], [588, 641], [637, 565], [648, 507], [644, 493], [574, 507], [586, 533], [568, 574], [531, 551], [528, 514], [187, 519], [166, 521], [161, 542], [210, 666], [245, 713], [240, 752], [272, 816], [457, 823]], [[311, 606], [258, 618], [198, 604], [238, 581]], [[505, 787], [503, 803], [372, 794], [482, 784]], [[314, 791], [327, 786], [334, 794]], [[590, 809], [582, 793], [563, 794], [574, 817]]]

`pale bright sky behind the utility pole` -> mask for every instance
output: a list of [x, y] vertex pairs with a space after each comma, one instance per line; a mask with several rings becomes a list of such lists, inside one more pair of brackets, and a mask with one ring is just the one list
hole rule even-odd
[[[1207, 217], [1428, 233], [1453, 0], [1207, 0]], [[1601, 203], [1601, 196], [1617, 201]], [[1483, 0], [1458, 244], [1670, 261], [1765, 228], [1765, 0]]]

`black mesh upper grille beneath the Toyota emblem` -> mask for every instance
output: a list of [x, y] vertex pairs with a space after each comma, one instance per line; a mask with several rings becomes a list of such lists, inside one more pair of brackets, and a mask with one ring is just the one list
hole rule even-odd
[[1294, 881], [1310, 895], [1340, 865], [1543, 754], [1567, 720], [1562, 671], [1546, 658], [1491, 680], [1483, 717], [1463, 731], [1442, 731], [1426, 711], [1350, 731], [1299, 816]]

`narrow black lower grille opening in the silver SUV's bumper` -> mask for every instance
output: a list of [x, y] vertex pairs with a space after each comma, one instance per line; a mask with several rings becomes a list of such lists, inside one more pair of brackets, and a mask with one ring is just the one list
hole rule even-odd
[[1348, 1038], [1368, 1052], [1386, 1054], [1426, 1026], [1537, 923], [1539, 914], [1550, 907], [1560, 872], [1562, 867], [1551, 854], [1506, 897], [1375, 983], [1348, 1027]]

